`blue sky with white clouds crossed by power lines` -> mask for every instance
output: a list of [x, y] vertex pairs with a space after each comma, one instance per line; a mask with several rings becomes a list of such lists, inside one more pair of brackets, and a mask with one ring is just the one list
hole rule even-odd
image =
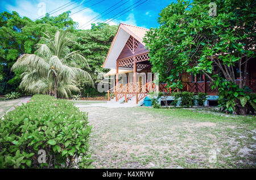
[[[71, 18], [75, 20], [75, 22], [78, 22], [80, 27], [82, 24], [86, 24], [89, 22], [90, 19], [93, 19], [97, 15], [101, 14], [101, 12], [107, 10], [109, 7], [115, 5], [115, 3], [118, 3], [114, 7], [110, 8], [108, 11], [106, 11], [104, 14], [108, 13], [109, 11], [113, 10], [115, 7], [122, 5], [115, 9], [114, 11], [110, 12], [109, 14], [101, 17], [98, 16], [97, 18], [100, 18], [97, 20], [97, 22], [105, 22], [105, 20], [108, 20], [112, 18], [112, 16], [118, 14], [118, 12], [121, 12], [121, 14], [130, 8], [139, 5], [140, 3], [144, 2], [145, 0], [1, 0], [1, 12], [2, 11], [16, 11], [19, 13], [20, 16], [27, 16], [30, 19], [36, 19], [40, 15], [44, 14], [45, 12], [49, 12], [52, 10], [55, 10], [56, 8], [65, 5], [66, 3], [69, 3], [68, 5], [65, 5], [61, 8], [63, 10], [57, 11], [53, 16], [59, 15], [62, 12], [65, 12], [67, 10], [71, 10], [71, 14], [82, 10], [85, 7], [85, 10], [82, 10], [80, 12], [77, 12], [76, 14], [71, 15]], [[133, 10], [128, 11], [126, 14], [123, 14], [117, 19], [114, 19], [109, 24], [119, 24], [119, 23], [126, 23], [126, 24], [132, 24], [137, 25], [139, 27], [144, 28], [151, 28], [151, 27], [158, 27], [157, 19], [159, 16], [160, 11], [169, 5], [171, 2], [175, 0], [148, 0], [144, 2], [142, 5], [139, 5], [138, 7], [135, 7]], [[127, 7], [133, 5], [134, 3], [138, 2], [134, 6], [128, 8]], [[71, 5], [73, 3], [73, 5]], [[96, 4], [97, 3], [97, 4]], [[94, 5], [96, 4], [96, 5]], [[67, 7], [66, 7], [67, 6]], [[76, 7], [79, 6], [79, 7]], [[76, 7], [76, 8], [74, 8]], [[53, 11], [54, 12], [54, 11]], [[102, 14], [102, 15], [104, 15]], [[119, 15], [121, 15], [119, 14]], [[117, 17], [117, 16], [115, 16]], [[97, 19], [96, 18], [96, 19]], [[94, 19], [95, 20], [95, 19]], [[86, 25], [86, 27], [82, 27], [84, 29], [90, 28], [89, 25]]]

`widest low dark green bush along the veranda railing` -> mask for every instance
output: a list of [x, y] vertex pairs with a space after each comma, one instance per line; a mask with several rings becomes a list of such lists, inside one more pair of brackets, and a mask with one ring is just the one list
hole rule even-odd
[[[196, 97], [195, 93], [193, 92], [174, 92], [172, 93], [172, 96], [174, 96], [174, 101], [172, 102], [172, 105], [180, 105], [185, 108], [189, 108], [195, 104]], [[179, 100], [180, 103], [178, 104]]]

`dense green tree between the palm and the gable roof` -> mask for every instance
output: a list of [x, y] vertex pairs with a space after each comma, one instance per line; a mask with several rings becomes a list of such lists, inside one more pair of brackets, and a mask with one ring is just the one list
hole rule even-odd
[[[89, 74], [95, 83], [100, 82], [98, 80], [98, 74], [101, 72], [108, 72], [108, 69], [101, 67], [108, 53], [110, 44], [117, 32], [117, 25], [109, 25], [106, 23], [92, 24], [92, 29], [77, 30], [70, 33], [70, 37], [75, 44], [71, 46], [71, 50], [79, 50], [81, 54], [86, 58], [90, 69]], [[85, 65], [82, 62], [77, 62], [79, 66], [84, 69]], [[84, 80], [79, 82], [80, 88], [83, 89], [84, 95], [96, 95], [96, 89], [88, 87], [84, 84]]]

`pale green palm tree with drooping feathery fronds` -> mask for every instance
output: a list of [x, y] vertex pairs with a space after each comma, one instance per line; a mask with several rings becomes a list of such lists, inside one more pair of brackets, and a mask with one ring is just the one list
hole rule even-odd
[[22, 68], [22, 82], [20, 88], [32, 93], [53, 95], [57, 98], [68, 98], [72, 91], [80, 92], [76, 86], [79, 78], [85, 78], [93, 86], [92, 77], [88, 72], [78, 68], [76, 61], [86, 59], [79, 51], [70, 52], [68, 45], [73, 41], [67, 37], [67, 31], [57, 31], [55, 36], [44, 33], [45, 44], [38, 44], [35, 54], [23, 54], [14, 63], [11, 70]]

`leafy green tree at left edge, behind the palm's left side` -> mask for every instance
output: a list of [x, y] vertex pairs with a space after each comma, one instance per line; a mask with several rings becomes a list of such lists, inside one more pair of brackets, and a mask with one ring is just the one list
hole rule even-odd
[[22, 71], [10, 72], [10, 68], [21, 54], [32, 54], [36, 44], [43, 36], [42, 32], [55, 33], [58, 29], [74, 31], [76, 22], [68, 17], [69, 12], [56, 17], [48, 15], [33, 22], [20, 17], [15, 11], [0, 14], [0, 94], [17, 91]]

